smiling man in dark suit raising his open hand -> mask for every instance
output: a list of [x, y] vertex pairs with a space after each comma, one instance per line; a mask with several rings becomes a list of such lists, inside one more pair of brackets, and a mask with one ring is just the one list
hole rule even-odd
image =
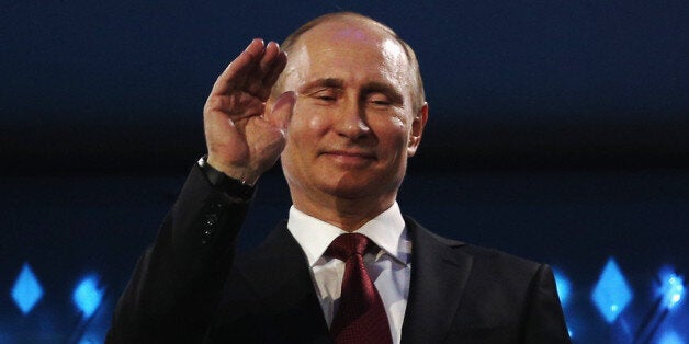
[[[215, 82], [207, 159], [139, 261], [109, 342], [567, 343], [547, 265], [402, 216], [397, 191], [428, 118], [411, 48], [335, 13], [283, 49], [255, 39]], [[279, 157], [289, 221], [235, 256], [251, 185]], [[342, 257], [340, 239], [362, 249]]]

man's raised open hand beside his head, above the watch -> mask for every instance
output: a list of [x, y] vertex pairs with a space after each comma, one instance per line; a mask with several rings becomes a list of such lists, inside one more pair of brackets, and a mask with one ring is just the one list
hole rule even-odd
[[296, 100], [285, 92], [269, 102], [286, 62], [276, 43], [256, 38], [217, 78], [203, 108], [212, 167], [253, 184], [275, 163]]

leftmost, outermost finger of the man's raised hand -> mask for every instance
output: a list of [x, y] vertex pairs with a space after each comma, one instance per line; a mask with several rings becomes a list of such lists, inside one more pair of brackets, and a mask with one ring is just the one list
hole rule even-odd
[[213, 85], [212, 94], [227, 93], [241, 88], [256, 65], [263, 57], [263, 39], [255, 38], [247, 48], [225, 68]]

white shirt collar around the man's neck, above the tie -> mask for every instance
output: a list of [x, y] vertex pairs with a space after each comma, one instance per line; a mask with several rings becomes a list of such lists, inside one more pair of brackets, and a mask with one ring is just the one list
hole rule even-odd
[[[406, 265], [409, 261], [410, 243], [405, 227], [399, 206], [395, 202], [354, 233], [366, 236], [385, 253]], [[294, 206], [290, 208], [287, 229], [306, 253], [309, 266], [316, 264], [335, 238], [347, 233], [336, 226], [302, 213]]]

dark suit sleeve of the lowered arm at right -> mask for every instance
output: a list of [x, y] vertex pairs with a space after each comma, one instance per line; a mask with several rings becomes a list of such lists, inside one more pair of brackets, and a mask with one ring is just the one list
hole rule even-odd
[[571, 343], [560, 305], [553, 271], [541, 265], [530, 290], [524, 330], [526, 343]]

